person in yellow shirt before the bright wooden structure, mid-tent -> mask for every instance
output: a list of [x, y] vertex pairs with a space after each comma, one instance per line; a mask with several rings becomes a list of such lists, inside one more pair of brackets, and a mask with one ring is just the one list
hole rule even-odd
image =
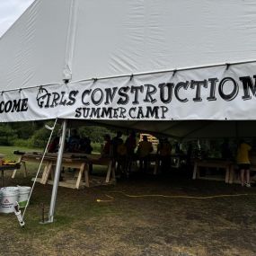
[[149, 163], [149, 154], [153, 151], [153, 146], [150, 141], [147, 140], [147, 136], [142, 137], [142, 141], [137, 146], [137, 154], [139, 157], [139, 167], [141, 171], [147, 171]]

